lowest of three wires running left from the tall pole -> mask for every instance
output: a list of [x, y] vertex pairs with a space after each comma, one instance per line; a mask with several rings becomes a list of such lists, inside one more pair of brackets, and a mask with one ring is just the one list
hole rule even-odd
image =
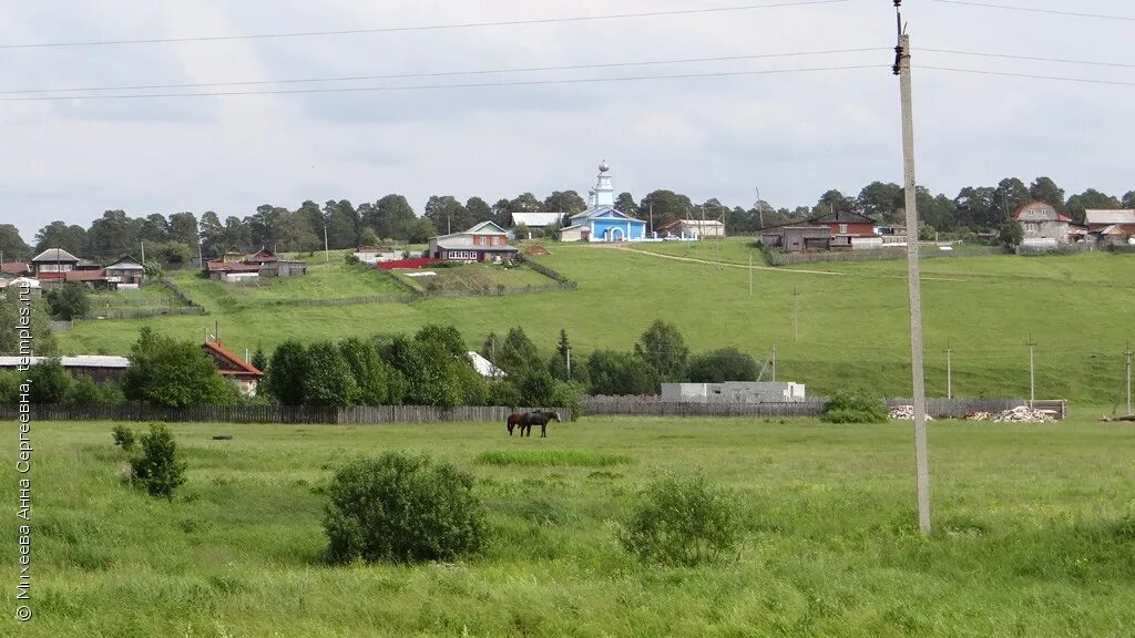
[[420, 91], [432, 89], [480, 89], [489, 86], [536, 86], [545, 84], [588, 84], [600, 82], [634, 82], [644, 79], [688, 79], [698, 77], [737, 77], [751, 75], [777, 75], [792, 73], [815, 73], [830, 70], [878, 69], [886, 65], [854, 65], [842, 67], [812, 67], [794, 69], [735, 70], [721, 73], [689, 73], [671, 75], [640, 75], [630, 77], [587, 77], [574, 79], [523, 79], [515, 82], [476, 82], [466, 84], [419, 84], [412, 86], [351, 86], [337, 89], [280, 89], [277, 91], [216, 91], [199, 93], [134, 93], [112, 95], [40, 95], [24, 98], [0, 98], [0, 102], [48, 102], [59, 100], [133, 100], [140, 98], [222, 98], [230, 95], [284, 95], [300, 93], [360, 93], [375, 91]]

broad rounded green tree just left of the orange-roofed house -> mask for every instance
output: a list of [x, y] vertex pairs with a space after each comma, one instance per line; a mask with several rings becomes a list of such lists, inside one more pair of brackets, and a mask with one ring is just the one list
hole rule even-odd
[[236, 403], [236, 388], [193, 342], [158, 335], [143, 326], [129, 359], [123, 392], [131, 400], [163, 408]]

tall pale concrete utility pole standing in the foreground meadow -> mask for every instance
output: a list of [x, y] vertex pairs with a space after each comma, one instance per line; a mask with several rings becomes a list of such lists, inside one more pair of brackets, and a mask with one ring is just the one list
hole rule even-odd
[[894, 48], [894, 75], [899, 76], [902, 112], [903, 190], [907, 209], [907, 282], [910, 296], [910, 376], [915, 403], [915, 475], [918, 497], [918, 529], [928, 536], [930, 459], [926, 445], [926, 379], [923, 376], [922, 286], [918, 277], [918, 199], [915, 187], [915, 125], [910, 86], [910, 36], [905, 33], [902, 0], [894, 0], [899, 42]]

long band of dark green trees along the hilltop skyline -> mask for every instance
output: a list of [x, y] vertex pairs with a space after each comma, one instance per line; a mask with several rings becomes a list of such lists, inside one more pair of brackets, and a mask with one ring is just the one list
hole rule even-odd
[[[1007, 178], [997, 186], [967, 186], [953, 199], [918, 188], [918, 210], [923, 223], [957, 237], [999, 229], [1011, 211], [1031, 200], [1045, 201], [1074, 220], [1083, 221], [1085, 209], [1135, 208], [1135, 191], [1116, 198], [1088, 188], [1066, 196], [1065, 191], [1048, 177], [1037, 177], [1027, 185], [1020, 179]], [[495, 204], [476, 196], [462, 203], [451, 195], [435, 195], [426, 202], [421, 215], [398, 194], [358, 207], [347, 200], [328, 200], [322, 207], [305, 201], [295, 209], [263, 204], [244, 218], [229, 216], [224, 220], [213, 211], [200, 217], [193, 212], [176, 212], [169, 217], [161, 213], [131, 217], [121, 210], [108, 210], [87, 228], [52, 221], [35, 234], [34, 246], [20, 237], [15, 226], [2, 224], [0, 252], [5, 261], [14, 261], [27, 259], [47, 247], [61, 247], [79, 257], [108, 260], [136, 253], [140, 243], [145, 242], [148, 259], [178, 265], [196, 257], [199, 250], [207, 258], [229, 249], [252, 251], [270, 247], [308, 252], [323, 247], [325, 233], [331, 249], [379, 240], [420, 243], [438, 232], [461, 230], [486, 219], [507, 227], [512, 225], [513, 212], [558, 211], [572, 215], [582, 211], [586, 205], [575, 191], [556, 191], [543, 200], [532, 193], [523, 193]], [[831, 190], [821, 195], [815, 205], [792, 209], [775, 208], [764, 201], [747, 209], [728, 208], [716, 199], [696, 204], [683, 194], [665, 190], [654, 191], [639, 201], [624, 192], [619, 195], [615, 205], [654, 225], [676, 218], [721, 219], [730, 234], [754, 233], [763, 227], [825, 215], [832, 210], [861, 212], [881, 224], [901, 221], [905, 215], [902, 187], [882, 182], [865, 186], [855, 196]]]

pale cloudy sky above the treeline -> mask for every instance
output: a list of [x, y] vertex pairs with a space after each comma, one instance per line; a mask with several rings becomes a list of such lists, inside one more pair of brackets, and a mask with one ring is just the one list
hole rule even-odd
[[[12, 48], [76, 41], [233, 36], [454, 25], [772, 5], [800, 0], [0, 0], [0, 223], [25, 241], [52, 220], [87, 226], [207, 210], [221, 219], [263, 203], [388, 193], [421, 212], [430, 195], [489, 203], [572, 188], [586, 195], [600, 160], [616, 192], [670, 188], [695, 202], [810, 205], [902, 181], [890, 0], [547, 22], [432, 31]], [[1071, 10], [1060, 0], [987, 0]], [[965, 186], [1050, 176], [1068, 194], [1135, 188], [1135, 85], [976, 75], [922, 67], [1135, 83], [1132, 68], [959, 56], [919, 49], [1135, 65], [1129, 20], [907, 0], [914, 49], [918, 183]], [[1079, 12], [1135, 17], [1121, 0]], [[851, 51], [875, 49], [869, 51]], [[815, 51], [842, 53], [528, 73], [102, 94], [328, 87], [449, 89], [90, 99], [20, 93], [77, 87], [266, 82], [623, 64]], [[871, 68], [794, 73], [737, 72]], [[657, 75], [665, 79], [562, 82]], [[68, 95], [54, 101], [20, 96]], [[73, 98], [74, 96], [74, 98]]]

